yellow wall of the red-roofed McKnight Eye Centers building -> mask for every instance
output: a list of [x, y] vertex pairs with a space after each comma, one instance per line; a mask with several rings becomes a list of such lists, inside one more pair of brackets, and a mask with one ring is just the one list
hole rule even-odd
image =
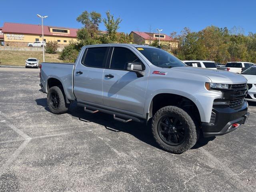
[[[39, 39], [39, 41], [42, 41], [42, 37], [40, 35], [30, 35], [30, 34], [4, 34], [4, 41], [9, 41], [9, 42], [35, 42], [36, 38]], [[60, 37], [60, 36], [44, 36], [44, 39], [46, 42], [49, 41], [57, 41], [58, 44], [64, 44], [67, 45], [69, 44], [70, 40], [76, 41], [76, 38], [70, 38], [70, 37]], [[66, 40], [67, 42], [64, 42]]]

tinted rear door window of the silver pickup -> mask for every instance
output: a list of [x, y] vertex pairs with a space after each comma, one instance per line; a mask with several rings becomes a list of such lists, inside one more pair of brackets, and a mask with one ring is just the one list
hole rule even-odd
[[105, 57], [107, 47], [88, 48], [82, 64], [90, 67], [106, 67]]

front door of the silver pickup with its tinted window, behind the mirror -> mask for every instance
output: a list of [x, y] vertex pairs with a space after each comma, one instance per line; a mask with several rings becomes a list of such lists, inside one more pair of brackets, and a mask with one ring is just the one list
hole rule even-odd
[[144, 64], [145, 75], [138, 77], [127, 71], [127, 62], [141, 62], [140, 56], [127, 46], [112, 48], [110, 68], [104, 70], [103, 102], [113, 110], [142, 114], [148, 83], [149, 67]]

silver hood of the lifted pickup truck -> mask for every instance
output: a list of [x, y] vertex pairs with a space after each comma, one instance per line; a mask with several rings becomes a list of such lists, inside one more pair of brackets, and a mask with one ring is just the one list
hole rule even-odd
[[174, 67], [171, 68], [176, 71], [198, 74], [208, 77], [213, 83], [225, 83], [225, 84], [242, 84], [247, 80], [244, 76], [233, 72], [227, 72], [223, 70], [200, 68], [200, 67]]

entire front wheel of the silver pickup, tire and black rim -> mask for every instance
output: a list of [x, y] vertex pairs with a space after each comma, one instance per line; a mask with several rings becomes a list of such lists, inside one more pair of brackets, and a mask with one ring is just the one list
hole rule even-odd
[[161, 148], [174, 154], [192, 148], [199, 136], [196, 122], [176, 106], [166, 106], [156, 112], [152, 119], [152, 133]]

